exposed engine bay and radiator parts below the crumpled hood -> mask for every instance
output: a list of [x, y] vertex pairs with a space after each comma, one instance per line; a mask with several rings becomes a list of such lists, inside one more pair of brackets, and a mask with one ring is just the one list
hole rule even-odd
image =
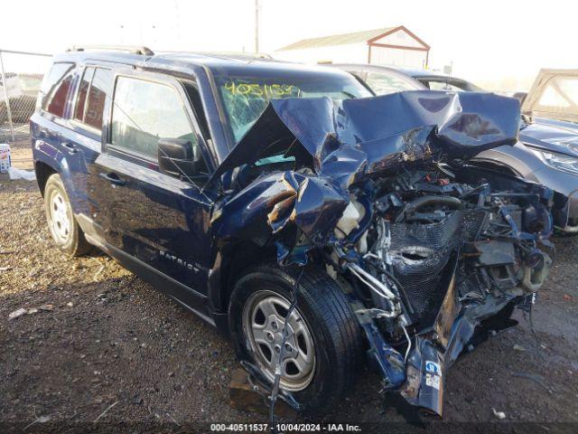
[[495, 193], [479, 179], [460, 183], [447, 165], [384, 178], [375, 184], [372, 210], [359, 212], [360, 222], [367, 212], [373, 219], [355, 247], [363, 267], [350, 270], [394, 341], [404, 338], [402, 325], [415, 332], [433, 326], [450, 284], [444, 277], [454, 270], [462, 305], [521, 297], [547, 277], [552, 261], [536, 247], [549, 217], [538, 212], [536, 195]]

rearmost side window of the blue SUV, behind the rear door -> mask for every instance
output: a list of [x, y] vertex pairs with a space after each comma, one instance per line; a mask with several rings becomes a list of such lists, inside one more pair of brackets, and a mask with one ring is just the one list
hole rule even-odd
[[54, 63], [51, 71], [42, 80], [41, 107], [44, 111], [60, 118], [64, 117], [66, 99], [72, 84], [73, 63]]

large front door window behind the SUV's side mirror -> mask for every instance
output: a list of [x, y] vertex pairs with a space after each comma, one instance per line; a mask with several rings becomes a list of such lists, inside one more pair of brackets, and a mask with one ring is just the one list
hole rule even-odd
[[156, 160], [159, 138], [190, 140], [195, 160], [202, 158], [197, 137], [176, 90], [160, 83], [118, 77], [111, 144]]

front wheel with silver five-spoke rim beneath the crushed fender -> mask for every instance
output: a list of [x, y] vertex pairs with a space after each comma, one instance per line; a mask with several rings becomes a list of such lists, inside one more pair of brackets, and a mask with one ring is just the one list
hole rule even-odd
[[[264, 330], [275, 333], [272, 328], [275, 324], [268, 319], [264, 320], [266, 316], [259, 314], [261, 308], [254, 307], [261, 302], [263, 306], [268, 306], [270, 300], [273, 300], [274, 321], [284, 319], [286, 310], [283, 310], [283, 306], [280, 308], [279, 304], [275, 304], [275, 297], [277, 300], [284, 299], [285, 307], [288, 307], [293, 287], [294, 278], [284, 270], [274, 265], [264, 265], [248, 269], [238, 279], [231, 294], [228, 320], [238, 358], [253, 363], [260, 370], [262, 377], [271, 383], [274, 374], [271, 367], [267, 366], [267, 351], [264, 351], [263, 347], [266, 344], [257, 343], [258, 337], [255, 337], [262, 332], [254, 332], [251, 326], [260, 327], [261, 325], [256, 323], [264, 322]], [[259, 299], [261, 301], [258, 301]], [[297, 300], [294, 314], [288, 321], [290, 325], [296, 324], [291, 330], [297, 331], [290, 333], [290, 337], [285, 341], [295, 348], [293, 355], [288, 355], [290, 358], [284, 366], [280, 389], [293, 393], [295, 400], [302, 405], [303, 413], [324, 413], [350, 392], [359, 369], [361, 332], [357, 318], [351, 311], [340, 286], [321, 269], [303, 271], [303, 277], [297, 288]], [[294, 320], [295, 316], [302, 318], [304, 327], [303, 322]], [[269, 344], [275, 345], [280, 342], [283, 328], [283, 325], [277, 327], [273, 342], [270, 336], [267, 336]], [[304, 351], [310, 347], [311, 353], [309, 350]], [[268, 353], [272, 353], [272, 350], [269, 349]], [[296, 355], [297, 353], [299, 355]], [[305, 353], [307, 357], [313, 354], [312, 363], [309, 363], [312, 364], [312, 371], [306, 376], [304, 373], [308, 372], [308, 364], [301, 363]], [[299, 364], [305, 368], [299, 369], [295, 363], [292, 366], [292, 361], [300, 362]], [[272, 364], [275, 365], [275, 361]], [[295, 374], [295, 368], [299, 373]], [[295, 382], [294, 375], [303, 378]]]

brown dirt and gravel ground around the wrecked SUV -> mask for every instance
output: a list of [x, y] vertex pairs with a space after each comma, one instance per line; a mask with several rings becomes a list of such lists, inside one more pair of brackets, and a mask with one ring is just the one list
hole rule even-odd
[[[266, 422], [229, 407], [238, 363], [209, 325], [106, 256], [67, 259], [53, 247], [35, 183], [0, 178], [0, 222], [0, 431], [34, 421], [26, 432]], [[461, 357], [447, 376], [444, 421], [578, 429], [578, 238], [555, 244], [534, 313], [537, 341], [519, 316], [519, 326]], [[21, 307], [42, 308], [9, 320]], [[405, 429], [380, 391], [377, 374], [360, 373], [323, 421]]]

